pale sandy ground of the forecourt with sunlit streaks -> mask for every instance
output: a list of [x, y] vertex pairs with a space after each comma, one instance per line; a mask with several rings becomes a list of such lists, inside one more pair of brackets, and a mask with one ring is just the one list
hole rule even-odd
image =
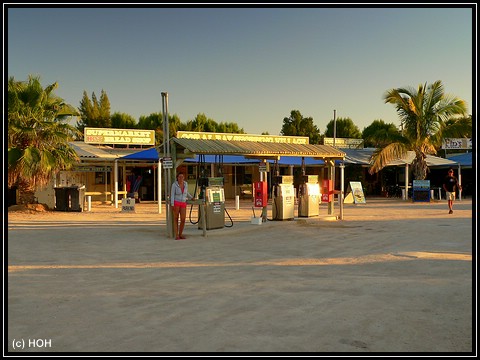
[[206, 237], [187, 213], [184, 241], [154, 203], [9, 212], [4, 351], [474, 354], [471, 199], [261, 225], [240, 205]]

